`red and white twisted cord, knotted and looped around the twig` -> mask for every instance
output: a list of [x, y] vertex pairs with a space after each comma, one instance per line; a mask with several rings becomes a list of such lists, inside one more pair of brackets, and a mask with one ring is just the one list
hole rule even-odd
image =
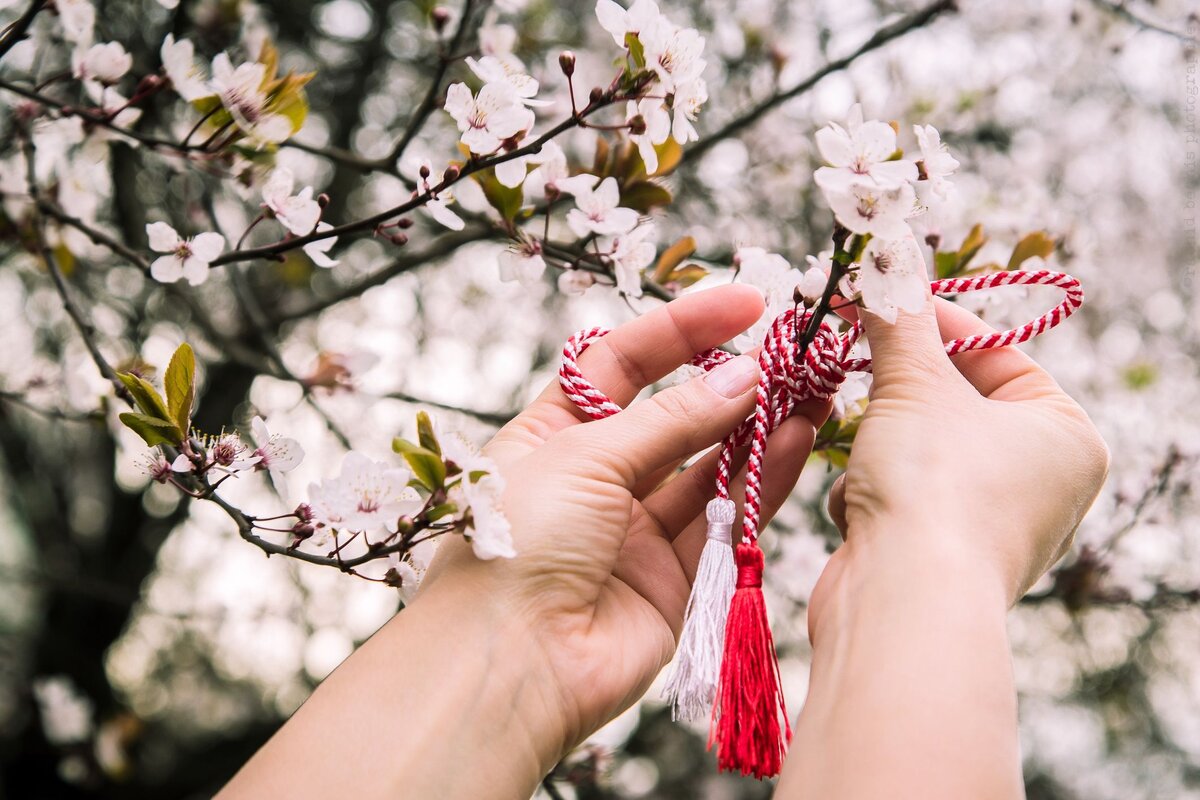
[[[1070, 317], [1084, 302], [1084, 289], [1078, 279], [1064, 272], [1048, 270], [990, 272], [971, 278], [947, 278], [934, 281], [930, 289], [935, 295], [952, 295], [1006, 285], [1057, 287], [1066, 293], [1066, 296], [1046, 313], [1018, 327], [947, 342], [947, 355], [1028, 342]], [[762, 461], [767, 452], [767, 437], [782, 425], [798, 403], [812, 398], [828, 399], [836, 393], [847, 373], [871, 371], [870, 359], [850, 356], [851, 349], [862, 336], [862, 323], [856, 323], [845, 333], [839, 335], [828, 323], [822, 321], [812, 343], [800, 357], [797, 353], [799, 331], [808, 325], [810, 315], [809, 311], [788, 309], [772, 323], [758, 353], [758, 387], [754, 416], [738, 426], [721, 444], [716, 467], [716, 497], [721, 499], [730, 499], [733, 449], [748, 443], [750, 445], [742, 521], [743, 541], [748, 543], [755, 542], [758, 537], [762, 513]], [[620, 407], [596, 389], [578, 366], [580, 355], [607, 332], [602, 327], [590, 327], [569, 338], [563, 348], [563, 363], [558, 373], [563, 392], [594, 420], [602, 420], [620, 411]], [[708, 372], [732, 357], [733, 354], [713, 348], [695, 355], [689, 363]]]

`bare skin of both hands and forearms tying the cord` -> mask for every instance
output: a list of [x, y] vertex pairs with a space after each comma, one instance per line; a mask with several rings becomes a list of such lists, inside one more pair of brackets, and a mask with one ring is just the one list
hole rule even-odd
[[[696, 293], [580, 366], [626, 405], [761, 313], [748, 287]], [[776, 796], [1020, 798], [1004, 614], [1066, 551], [1108, 451], [1020, 351], [944, 355], [943, 338], [986, 330], [972, 314], [930, 301], [865, 324], [875, 385], [829, 498], [846, 541], [809, 607], [809, 697]], [[751, 413], [756, 380], [737, 359], [602, 421], [547, 386], [485, 450], [508, 480], [517, 558], [446, 542], [412, 606], [220, 796], [529, 798], [670, 661], [715, 453], [678, 465]], [[810, 402], [770, 437], [766, 518], [828, 411]]]

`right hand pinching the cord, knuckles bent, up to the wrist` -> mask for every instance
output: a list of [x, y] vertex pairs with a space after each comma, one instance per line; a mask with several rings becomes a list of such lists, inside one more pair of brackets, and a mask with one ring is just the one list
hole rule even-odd
[[996, 585], [1009, 604], [1069, 548], [1108, 473], [1086, 413], [1015, 348], [946, 355], [992, 329], [934, 300], [889, 325], [863, 313], [875, 380], [829, 511], [846, 539], [810, 606], [815, 630], [851, 561], [899, 557]]

